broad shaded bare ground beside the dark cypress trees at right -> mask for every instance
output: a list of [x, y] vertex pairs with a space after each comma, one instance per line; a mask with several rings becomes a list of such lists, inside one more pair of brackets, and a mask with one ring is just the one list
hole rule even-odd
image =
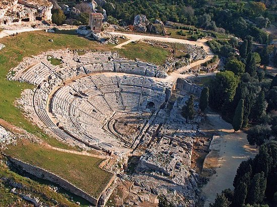
[[233, 180], [240, 163], [249, 157], [254, 157], [257, 149], [248, 145], [244, 132], [234, 133], [231, 124], [225, 122], [220, 115], [207, 114], [207, 124], [201, 126], [202, 130], [213, 131], [222, 138], [219, 151], [216, 174], [202, 188], [202, 195], [206, 198], [204, 207], [208, 207], [210, 202], [214, 202], [217, 193], [221, 193], [226, 188], [233, 189]]

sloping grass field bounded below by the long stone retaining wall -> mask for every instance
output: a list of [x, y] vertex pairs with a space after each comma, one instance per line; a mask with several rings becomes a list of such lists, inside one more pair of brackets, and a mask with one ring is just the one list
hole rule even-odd
[[99, 196], [112, 174], [99, 168], [102, 159], [43, 148], [26, 141], [5, 151], [12, 157], [47, 169], [93, 196]]

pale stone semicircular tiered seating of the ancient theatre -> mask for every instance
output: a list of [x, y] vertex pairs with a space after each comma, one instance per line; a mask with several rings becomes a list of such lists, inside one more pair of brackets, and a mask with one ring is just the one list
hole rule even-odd
[[[50, 57], [61, 64], [52, 65]], [[169, 87], [146, 77], [154, 76], [157, 66], [120, 59], [112, 52], [51, 51], [25, 59], [14, 71], [13, 79], [37, 85], [33, 107], [49, 130], [68, 143], [99, 150], [115, 151], [124, 144], [103, 129], [115, 112], [143, 112], [149, 102], [158, 109]]]

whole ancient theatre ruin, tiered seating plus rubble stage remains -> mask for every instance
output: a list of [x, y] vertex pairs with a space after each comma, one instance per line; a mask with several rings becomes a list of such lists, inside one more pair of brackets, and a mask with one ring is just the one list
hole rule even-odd
[[[90, 25], [97, 24], [92, 18]], [[51, 59], [60, 64], [53, 65]], [[165, 194], [178, 198], [178, 206], [194, 206], [199, 191], [191, 159], [201, 114], [186, 122], [181, 110], [190, 93], [200, 95], [201, 87], [166, 77], [163, 68], [151, 63], [124, 59], [116, 52], [84, 50], [28, 57], [9, 75], [36, 85], [24, 90], [18, 106], [48, 134], [116, 157], [106, 169], [119, 174], [132, 154], [135, 167], [127, 169], [132, 175], [122, 175], [122, 180], [135, 181], [134, 194]], [[199, 109], [196, 101], [194, 108]], [[98, 204], [105, 204], [114, 187], [96, 198]]]

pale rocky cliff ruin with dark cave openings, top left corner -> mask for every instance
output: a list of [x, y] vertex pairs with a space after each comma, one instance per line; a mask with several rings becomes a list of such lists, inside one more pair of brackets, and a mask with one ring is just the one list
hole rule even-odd
[[1, 0], [0, 25], [51, 21], [53, 5], [48, 0]]

